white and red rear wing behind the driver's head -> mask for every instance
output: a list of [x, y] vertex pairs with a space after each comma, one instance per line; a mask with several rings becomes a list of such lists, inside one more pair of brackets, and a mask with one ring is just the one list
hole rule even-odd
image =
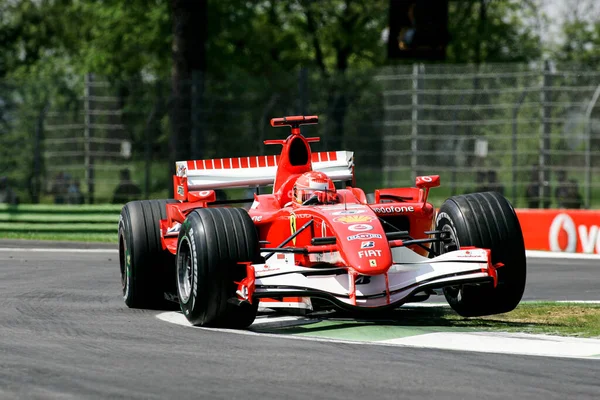
[[[351, 151], [312, 153], [312, 169], [327, 174], [334, 182], [353, 180], [353, 155]], [[188, 191], [273, 185], [279, 157], [271, 155], [177, 161], [179, 179], [176, 181], [179, 181], [179, 186], [185, 187], [180, 188], [176, 182], [175, 196], [179, 198], [179, 194], [184, 197], [183, 192], [187, 195]]]

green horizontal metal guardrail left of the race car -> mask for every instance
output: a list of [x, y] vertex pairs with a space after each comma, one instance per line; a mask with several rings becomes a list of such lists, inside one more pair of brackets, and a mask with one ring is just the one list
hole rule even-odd
[[117, 234], [120, 205], [0, 204], [0, 236], [11, 234]]

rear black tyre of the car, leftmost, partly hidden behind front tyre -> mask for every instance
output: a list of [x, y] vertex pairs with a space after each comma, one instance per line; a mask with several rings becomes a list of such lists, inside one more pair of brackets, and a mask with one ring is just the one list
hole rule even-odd
[[175, 292], [175, 256], [162, 249], [161, 219], [175, 200], [131, 201], [119, 218], [119, 262], [123, 300], [131, 308], [172, 309], [165, 292]]

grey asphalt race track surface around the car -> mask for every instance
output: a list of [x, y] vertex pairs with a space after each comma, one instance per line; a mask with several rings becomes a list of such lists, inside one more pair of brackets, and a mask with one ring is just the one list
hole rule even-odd
[[[8, 246], [24, 247], [0, 242]], [[158, 320], [157, 311], [125, 307], [119, 280], [116, 252], [0, 251], [0, 399], [504, 400], [600, 393], [594, 360], [189, 329]], [[525, 298], [600, 300], [599, 284], [597, 261], [535, 260]]]

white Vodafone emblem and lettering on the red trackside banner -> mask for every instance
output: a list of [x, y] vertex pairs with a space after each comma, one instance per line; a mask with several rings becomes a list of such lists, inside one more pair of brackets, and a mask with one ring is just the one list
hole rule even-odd
[[575, 226], [573, 218], [568, 214], [558, 214], [554, 217], [548, 232], [548, 243], [551, 251], [575, 253], [577, 244], [581, 243], [583, 253], [600, 254], [600, 235], [598, 226]]

